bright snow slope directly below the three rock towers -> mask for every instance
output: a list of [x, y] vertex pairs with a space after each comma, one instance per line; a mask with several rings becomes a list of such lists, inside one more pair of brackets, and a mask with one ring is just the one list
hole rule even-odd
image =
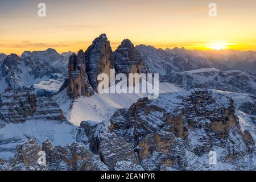
[[[159, 83], [159, 93], [176, 92], [181, 88], [167, 82]], [[109, 122], [109, 118], [114, 111], [123, 107], [129, 107], [139, 98], [146, 97], [146, 94], [98, 94], [94, 93], [92, 97], [80, 97], [72, 101], [63, 90], [56, 96], [55, 100], [65, 113], [65, 117], [69, 122], [76, 126], [80, 126], [81, 121], [105, 121]]]

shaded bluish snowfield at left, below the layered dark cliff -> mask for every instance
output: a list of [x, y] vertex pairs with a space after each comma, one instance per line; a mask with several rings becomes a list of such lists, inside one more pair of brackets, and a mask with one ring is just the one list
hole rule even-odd
[[25, 123], [10, 123], [0, 128], [0, 158], [14, 156], [15, 147], [29, 139], [43, 143], [51, 140], [53, 146], [65, 146], [76, 140], [77, 127], [69, 123], [46, 120], [30, 120]]

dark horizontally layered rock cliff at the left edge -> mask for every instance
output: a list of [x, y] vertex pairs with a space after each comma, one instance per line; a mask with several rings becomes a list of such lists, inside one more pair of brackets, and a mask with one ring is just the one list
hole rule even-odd
[[[1, 123], [24, 123], [28, 120], [67, 121], [59, 105], [49, 97], [36, 98], [30, 91], [0, 94]], [[2, 127], [3, 127], [2, 126]]]

